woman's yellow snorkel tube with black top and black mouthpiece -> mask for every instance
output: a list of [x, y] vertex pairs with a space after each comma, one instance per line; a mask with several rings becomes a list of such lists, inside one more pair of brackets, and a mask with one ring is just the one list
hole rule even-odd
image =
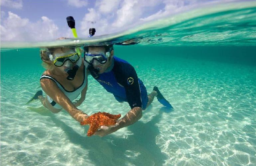
[[[72, 16], [68, 16], [68, 17], [66, 18], [66, 20], [67, 20], [67, 25], [68, 25], [68, 27], [71, 28], [71, 31], [72, 31], [72, 33], [73, 33], [74, 38], [77, 38], [77, 34], [76, 34], [76, 30], [75, 30], [75, 20], [74, 20], [74, 18], [73, 18]], [[75, 48], [75, 51], [76, 51], [76, 53], [77, 53], [78, 55], [81, 55], [81, 52], [80, 52], [80, 50], [79, 50], [78, 47]], [[81, 64], [82, 64], [81, 59], [78, 60], [77, 63], [78, 63], [78, 64], [76, 64], [72, 69], [67, 69], [67, 71], [66, 71], [67, 74], [68, 74], [67, 80], [73, 80], [73, 79], [74, 79], [77, 70], [79, 69], [79, 67], [80, 67]]]

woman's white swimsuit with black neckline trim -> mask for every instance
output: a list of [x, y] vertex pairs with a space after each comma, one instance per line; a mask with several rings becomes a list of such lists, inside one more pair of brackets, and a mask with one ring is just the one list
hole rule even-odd
[[[80, 85], [78, 88], [76, 88], [75, 90], [73, 91], [67, 91], [65, 90], [65, 88], [56, 80], [54, 79], [52, 76], [49, 76], [49, 75], [42, 75], [40, 80], [41, 79], [51, 79], [53, 80], [57, 86], [60, 88], [60, 90], [69, 98], [70, 101], [73, 101], [74, 99], [76, 99], [79, 94], [81, 94], [82, 90], [84, 89], [84, 87], [86, 86], [86, 80], [87, 80], [87, 71], [86, 71], [86, 68], [84, 67], [84, 78], [83, 78], [83, 83], [82, 85]], [[62, 107], [56, 103], [50, 96], [46, 95], [48, 101], [51, 103], [51, 105], [54, 107], [54, 108], [57, 108], [57, 109], [61, 109]]]

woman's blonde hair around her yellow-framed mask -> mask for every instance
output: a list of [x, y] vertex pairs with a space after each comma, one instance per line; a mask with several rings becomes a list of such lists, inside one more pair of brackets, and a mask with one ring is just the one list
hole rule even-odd
[[[45, 69], [53, 70], [54, 64], [50, 60], [49, 55], [53, 54], [56, 49], [61, 49], [63, 52], [65, 52], [66, 49], [75, 49], [74, 47], [50, 47], [50, 48], [41, 48], [40, 49], [40, 57], [42, 59], [42, 66]], [[81, 49], [80, 49], [81, 51]]]

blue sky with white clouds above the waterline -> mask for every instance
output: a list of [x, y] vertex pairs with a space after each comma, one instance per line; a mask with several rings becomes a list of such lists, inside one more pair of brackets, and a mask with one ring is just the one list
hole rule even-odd
[[206, 3], [233, 0], [1, 0], [1, 41], [43, 41], [72, 37], [66, 17], [73, 16], [78, 37], [132, 28]]

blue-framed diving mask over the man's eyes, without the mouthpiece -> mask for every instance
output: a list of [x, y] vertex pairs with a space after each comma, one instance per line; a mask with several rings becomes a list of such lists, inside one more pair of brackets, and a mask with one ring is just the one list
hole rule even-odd
[[90, 53], [85, 53], [84, 54], [84, 60], [87, 63], [92, 63], [93, 60], [97, 60], [101, 64], [105, 64], [107, 62], [107, 58], [110, 56], [110, 53], [107, 52], [106, 55], [99, 53], [99, 54], [90, 54]]

